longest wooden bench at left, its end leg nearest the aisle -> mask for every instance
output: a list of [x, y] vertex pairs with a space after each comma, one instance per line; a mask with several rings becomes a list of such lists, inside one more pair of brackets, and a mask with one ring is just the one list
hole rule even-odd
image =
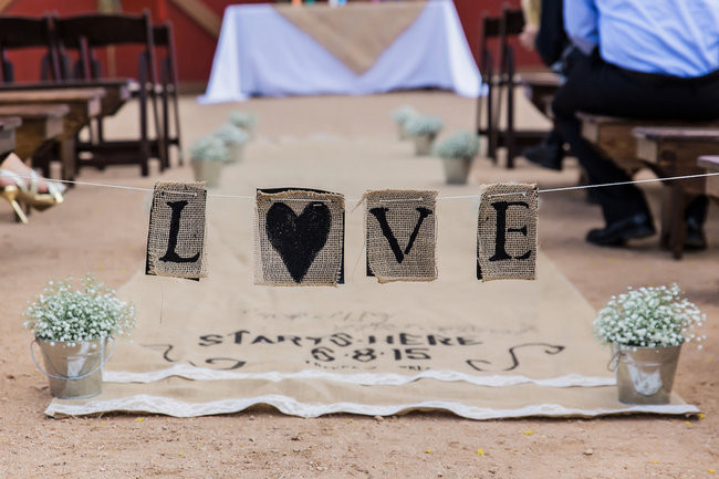
[[69, 112], [63, 118], [63, 132], [58, 139], [62, 162], [61, 177], [64, 180], [73, 180], [77, 165], [76, 135], [90, 123], [91, 118], [95, 118], [102, 113], [103, 96], [105, 96], [105, 90], [95, 87], [0, 91], [0, 105], [67, 105]]

